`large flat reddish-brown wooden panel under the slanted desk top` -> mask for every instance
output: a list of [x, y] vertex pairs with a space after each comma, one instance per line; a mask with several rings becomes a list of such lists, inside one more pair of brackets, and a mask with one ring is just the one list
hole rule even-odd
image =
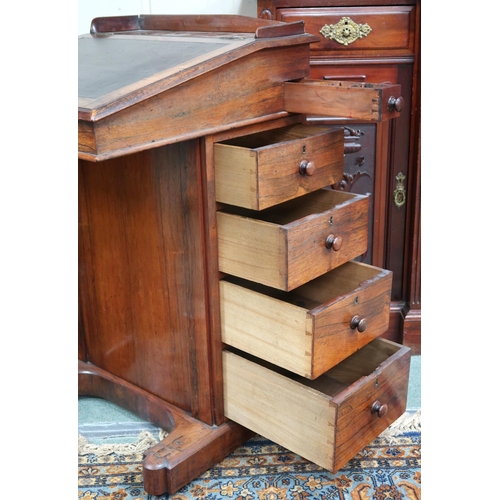
[[88, 360], [212, 424], [198, 141], [79, 167]]

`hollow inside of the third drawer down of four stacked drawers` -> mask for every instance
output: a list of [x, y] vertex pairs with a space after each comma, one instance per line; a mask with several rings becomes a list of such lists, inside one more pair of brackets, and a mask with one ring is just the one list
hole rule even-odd
[[377, 267], [350, 261], [290, 292], [277, 290], [236, 276], [228, 275], [224, 279], [257, 293], [313, 310], [316, 307], [327, 305], [336, 300], [337, 297], [352, 293], [353, 290], [374, 279], [381, 272], [383, 270]]

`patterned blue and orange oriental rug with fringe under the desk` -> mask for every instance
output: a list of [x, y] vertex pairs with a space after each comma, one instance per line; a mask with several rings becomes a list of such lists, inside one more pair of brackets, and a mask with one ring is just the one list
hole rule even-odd
[[[154, 444], [151, 433], [138, 443]], [[148, 495], [141, 444], [99, 450], [79, 438], [79, 500], [420, 500], [420, 412], [399, 421], [336, 474], [254, 436], [177, 493]], [[125, 451], [125, 453], [124, 453]]]

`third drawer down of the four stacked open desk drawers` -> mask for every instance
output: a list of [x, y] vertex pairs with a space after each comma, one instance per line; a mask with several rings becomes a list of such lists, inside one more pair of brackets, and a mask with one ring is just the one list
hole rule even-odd
[[315, 379], [384, 333], [392, 273], [348, 262], [293, 292], [226, 277], [225, 344]]

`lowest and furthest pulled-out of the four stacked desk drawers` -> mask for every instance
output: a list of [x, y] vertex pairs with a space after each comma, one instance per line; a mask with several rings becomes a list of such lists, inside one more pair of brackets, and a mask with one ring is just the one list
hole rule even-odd
[[[226, 417], [332, 472], [405, 409], [410, 349], [383, 339], [314, 381], [243, 353], [222, 355]], [[377, 401], [385, 410], [372, 413]]]

